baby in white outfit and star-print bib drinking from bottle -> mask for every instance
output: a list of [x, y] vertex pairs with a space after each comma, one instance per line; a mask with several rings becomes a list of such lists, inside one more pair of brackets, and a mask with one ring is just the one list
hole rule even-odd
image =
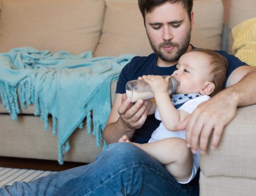
[[172, 74], [178, 82], [176, 94], [167, 93], [169, 77], [147, 75], [155, 99], [147, 106], [147, 114], [161, 120], [150, 141], [130, 142], [126, 135], [119, 142], [130, 142], [157, 159], [182, 184], [190, 182], [199, 168], [199, 152], [192, 154], [186, 147], [185, 130], [177, 131], [182, 122], [202, 102], [221, 91], [227, 73], [227, 60], [207, 49], [194, 49], [183, 54]]

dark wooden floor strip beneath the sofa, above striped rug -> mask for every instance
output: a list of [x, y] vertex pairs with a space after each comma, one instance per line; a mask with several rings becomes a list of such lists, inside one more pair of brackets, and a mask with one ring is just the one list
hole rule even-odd
[[59, 165], [57, 161], [50, 161], [50, 160], [0, 157], [0, 167], [61, 171], [61, 170], [77, 167], [80, 165], [86, 165], [86, 164], [65, 161], [63, 165]]

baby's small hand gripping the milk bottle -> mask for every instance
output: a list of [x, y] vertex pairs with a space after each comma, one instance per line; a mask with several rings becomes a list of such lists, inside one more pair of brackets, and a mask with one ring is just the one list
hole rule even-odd
[[147, 75], [145, 77], [142, 76], [142, 78], [150, 84], [151, 90], [154, 94], [167, 92], [169, 77], [164, 79], [162, 76]]

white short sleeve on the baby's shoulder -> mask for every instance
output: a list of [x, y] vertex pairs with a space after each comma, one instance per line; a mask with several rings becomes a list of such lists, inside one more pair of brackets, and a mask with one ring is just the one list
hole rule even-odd
[[197, 108], [197, 106], [207, 100], [209, 100], [210, 97], [207, 95], [203, 95], [200, 97], [197, 97], [195, 99], [190, 99], [187, 102], [185, 102], [178, 110], [183, 110], [187, 112], [188, 114], [193, 113], [193, 111]]

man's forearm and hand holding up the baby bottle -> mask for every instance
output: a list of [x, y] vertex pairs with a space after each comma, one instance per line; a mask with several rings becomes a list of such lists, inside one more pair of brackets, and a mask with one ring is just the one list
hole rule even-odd
[[116, 94], [108, 122], [103, 131], [103, 138], [107, 144], [118, 142], [126, 135], [131, 140], [134, 131], [140, 128], [147, 117], [147, 102], [138, 100], [134, 105], [126, 94]]

